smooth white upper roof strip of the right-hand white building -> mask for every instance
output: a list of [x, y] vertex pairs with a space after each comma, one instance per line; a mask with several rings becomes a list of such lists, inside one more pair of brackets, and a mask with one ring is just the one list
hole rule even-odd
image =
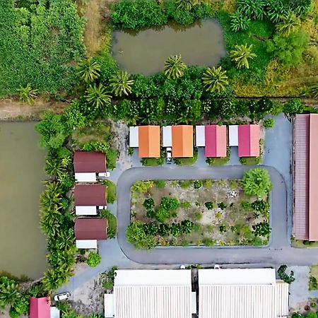
[[275, 269], [199, 269], [199, 285], [269, 285]]

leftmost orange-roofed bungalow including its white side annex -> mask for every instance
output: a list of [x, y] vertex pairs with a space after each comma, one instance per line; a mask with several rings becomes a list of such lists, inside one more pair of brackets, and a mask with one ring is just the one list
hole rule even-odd
[[160, 126], [129, 127], [129, 146], [139, 148], [139, 158], [159, 158]]

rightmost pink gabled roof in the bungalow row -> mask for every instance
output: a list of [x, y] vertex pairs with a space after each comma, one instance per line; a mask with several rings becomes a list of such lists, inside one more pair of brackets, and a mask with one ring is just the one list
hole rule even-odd
[[259, 157], [259, 125], [238, 126], [239, 157]]

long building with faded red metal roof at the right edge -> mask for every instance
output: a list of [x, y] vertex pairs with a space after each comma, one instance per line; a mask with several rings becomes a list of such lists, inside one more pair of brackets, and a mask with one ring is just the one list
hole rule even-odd
[[293, 234], [318, 241], [318, 114], [298, 114], [294, 122]]

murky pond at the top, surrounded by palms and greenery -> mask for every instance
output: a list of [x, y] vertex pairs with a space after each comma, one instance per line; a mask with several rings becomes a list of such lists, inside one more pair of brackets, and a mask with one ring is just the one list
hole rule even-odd
[[216, 66], [226, 52], [220, 24], [207, 19], [140, 32], [116, 30], [112, 54], [129, 73], [151, 75], [163, 70], [170, 55], [181, 54], [187, 65]]

